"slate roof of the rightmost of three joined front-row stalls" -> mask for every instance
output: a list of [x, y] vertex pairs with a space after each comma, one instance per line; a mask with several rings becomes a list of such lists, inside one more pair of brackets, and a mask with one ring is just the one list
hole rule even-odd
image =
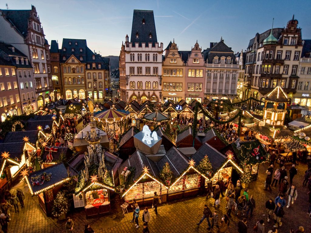
[[211, 147], [207, 143], [204, 143], [197, 150], [197, 152], [193, 154], [191, 158], [194, 160], [194, 162], [196, 162], [196, 165], [198, 165], [205, 155], [207, 155], [209, 160], [211, 161], [211, 165], [214, 172], [216, 172], [221, 167], [221, 165], [223, 165], [224, 162], [227, 160], [225, 155], [218, 152], [215, 148]]

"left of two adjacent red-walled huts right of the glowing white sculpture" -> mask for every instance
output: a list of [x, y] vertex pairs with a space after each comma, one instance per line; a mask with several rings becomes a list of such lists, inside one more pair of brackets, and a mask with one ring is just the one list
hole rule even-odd
[[202, 146], [200, 138], [195, 135], [193, 141], [193, 130], [189, 127], [186, 130], [183, 130], [176, 137], [176, 146], [177, 147], [194, 147], [196, 150]]

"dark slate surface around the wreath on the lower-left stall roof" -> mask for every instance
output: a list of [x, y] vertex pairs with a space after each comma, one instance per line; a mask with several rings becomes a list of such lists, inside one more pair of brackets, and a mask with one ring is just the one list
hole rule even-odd
[[[51, 180], [44, 181], [43, 185], [33, 186], [32, 182], [31, 182], [31, 177], [37, 176], [38, 174], [43, 174], [43, 172], [46, 172], [48, 174], [52, 173]], [[30, 183], [30, 187], [32, 189], [32, 192], [35, 193], [37, 191], [43, 190], [46, 187], [49, 187], [50, 185], [54, 185], [55, 183], [62, 181], [64, 179], [66, 179], [67, 177], [68, 177], [68, 174], [67, 174], [67, 169], [66, 169], [65, 165], [63, 163], [59, 163], [59, 164], [55, 164], [55, 165], [50, 166], [50, 167], [46, 167], [46, 168], [41, 169], [39, 171], [35, 171], [35, 172], [31, 173], [27, 177], [27, 179]]]

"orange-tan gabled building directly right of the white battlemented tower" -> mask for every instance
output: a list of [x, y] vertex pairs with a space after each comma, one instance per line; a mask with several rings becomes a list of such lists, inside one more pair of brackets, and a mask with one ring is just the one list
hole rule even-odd
[[165, 49], [162, 74], [163, 103], [168, 100], [178, 103], [184, 99], [186, 66], [174, 40]]

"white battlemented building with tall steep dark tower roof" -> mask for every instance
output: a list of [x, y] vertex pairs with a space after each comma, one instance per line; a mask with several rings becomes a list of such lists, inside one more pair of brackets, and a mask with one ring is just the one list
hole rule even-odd
[[139, 102], [162, 99], [163, 43], [158, 43], [153, 11], [134, 10], [131, 40], [125, 38], [125, 74], [120, 72], [121, 98]]

